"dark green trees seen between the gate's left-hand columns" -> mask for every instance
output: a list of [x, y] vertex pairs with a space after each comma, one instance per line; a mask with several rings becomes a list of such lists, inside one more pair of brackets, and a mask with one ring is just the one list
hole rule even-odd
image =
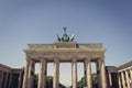
[[[38, 74], [34, 75], [34, 88], [37, 88]], [[46, 88], [53, 88], [53, 76], [46, 77]], [[66, 88], [64, 85], [59, 84], [59, 88]]]

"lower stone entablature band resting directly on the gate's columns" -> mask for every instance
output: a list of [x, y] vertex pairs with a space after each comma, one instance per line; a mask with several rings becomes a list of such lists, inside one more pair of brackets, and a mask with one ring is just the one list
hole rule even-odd
[[101, 58], [103, 56], [103, 52], [88, 52], [88, 51], [26, 51], [28, 58], [33, 58], [34, 61], [38, 61], [40, 58], [47, 58], [47, 61], [52, 62], [54, 58], [61, 58], [64, 62], [70, 62], [73, 57], [76, 57], [78, 61], [82, 62], [85, 58], [89, 58], [95, 61], [97, 58]]

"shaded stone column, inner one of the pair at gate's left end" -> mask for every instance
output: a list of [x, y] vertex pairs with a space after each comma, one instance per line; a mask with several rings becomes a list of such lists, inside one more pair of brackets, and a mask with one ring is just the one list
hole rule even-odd
[[28, 84], [29, 86], [28, 86], [28, 88], [33, 88], [35, 62], [31, 58], [29, 61], [30, 61], [30, 66], [29, 66], [29, 84]]

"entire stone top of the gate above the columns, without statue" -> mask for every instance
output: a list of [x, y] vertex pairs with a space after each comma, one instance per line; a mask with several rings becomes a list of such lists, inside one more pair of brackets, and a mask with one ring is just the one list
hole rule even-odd
[[41, 57], [47, 61], [61, 58], [61, 61], [72, 61], [77, 57], [78, 61], [84, 61], [90, 56], [91, 61], [103, 56], [106, 50], [101, 43], [95, 44], [78, 44], [76, 42], [55, 42], [53, 44], [29, 44], [29, 48], [24, 50], [28, 58], [38, 61]]

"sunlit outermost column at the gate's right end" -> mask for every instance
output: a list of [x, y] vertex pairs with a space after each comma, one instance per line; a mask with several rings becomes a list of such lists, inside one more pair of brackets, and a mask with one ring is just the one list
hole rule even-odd
[[100, 77], [101, 77], [101, 88], [107, 88], [107, 81], [106, 81], [106, 68], [105, 68], [105, 58], [101, 57], [99, 59], [99, 69], [100, 69]]

